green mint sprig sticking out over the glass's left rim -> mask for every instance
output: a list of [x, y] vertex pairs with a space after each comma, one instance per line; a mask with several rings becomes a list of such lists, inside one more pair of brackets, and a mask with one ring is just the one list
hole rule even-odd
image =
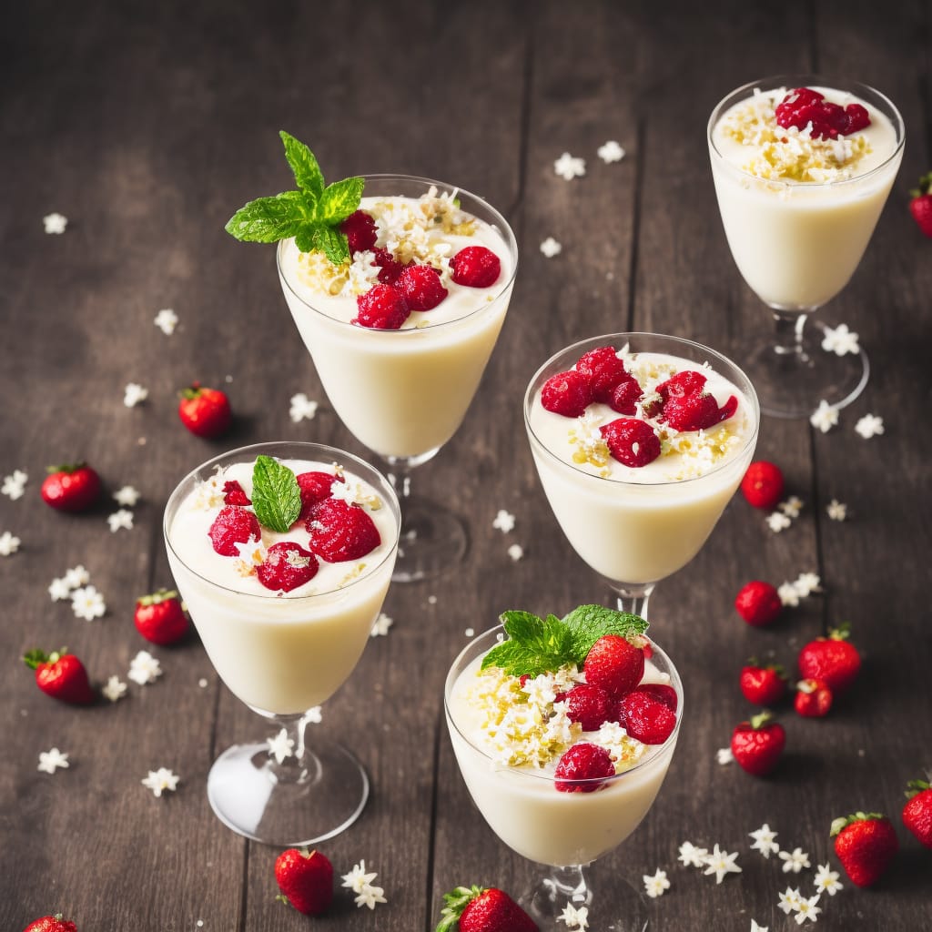
[[294, 237], [302, 253], [320, 250], [337, 266], [348, 262], [349, 242], [339, 226], [359, 207], [363, 179], [346, 178], [324, 185], [321, 167], [308, 146], [284, 130], [280, 135], [298, 190], [249, 201], [227, 221], [226, 232], [249, 242]]

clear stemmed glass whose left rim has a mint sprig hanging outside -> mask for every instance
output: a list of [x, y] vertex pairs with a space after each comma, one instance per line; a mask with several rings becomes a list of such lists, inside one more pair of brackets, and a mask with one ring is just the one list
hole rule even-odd
[[490, 299], [477, 297], [456, 319], [432, 322], [437, 308], [416, 327], [377, 330], [328, 314], [295, 274], [294, 240], [279, 243], [281, 288], [323, 389], [349, 432], [386, 462], [402, 500], [393, 579], [407, 582], [452, 568], [466, 551], [459, 515], [415, 495], [411, 475], [456, 432], [473, 400], [508, 309], [517, 245], [504, 217], [468, 191], [407, 175], [363, 178], [363, 198], [418, 199], [431, 188], [451, 194], [461, 210], [498, 232], [507, 253], [500, 256], [501, 274]]

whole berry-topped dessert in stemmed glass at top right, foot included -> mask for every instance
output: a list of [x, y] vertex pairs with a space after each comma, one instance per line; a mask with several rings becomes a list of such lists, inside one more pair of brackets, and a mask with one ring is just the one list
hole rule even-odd
[[[775, 334], [742, 355], [764, 414], [843, 407], [870, 372], [857, 345], [811, 320], [854, 274], [903, 156], [903, 120], [882, 93], [818, 75], [752, 81], [708, 121], [721, 221]], [[834, 352], [831, 351], [834, 348]]]

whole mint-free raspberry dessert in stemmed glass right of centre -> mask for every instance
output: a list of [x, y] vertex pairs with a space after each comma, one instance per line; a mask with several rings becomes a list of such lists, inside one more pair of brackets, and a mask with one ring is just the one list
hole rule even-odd
[[655, 584], [699, 552], [747, 470], [753, 387], [691, 340], [609, 334], [543, 363], [524, 414], [560, 528], [619, 608], [646, 618]]

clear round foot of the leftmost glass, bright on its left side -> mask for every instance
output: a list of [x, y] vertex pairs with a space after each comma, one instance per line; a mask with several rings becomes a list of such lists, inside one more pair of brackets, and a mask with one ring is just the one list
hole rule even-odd
[[214, 761], [207, 798], [228, 828], [255, 842], [294, 848], [348, 829], [369, 798], [363, 765], [335, 743], [276, 765], [267, 744], [234, 745]]

